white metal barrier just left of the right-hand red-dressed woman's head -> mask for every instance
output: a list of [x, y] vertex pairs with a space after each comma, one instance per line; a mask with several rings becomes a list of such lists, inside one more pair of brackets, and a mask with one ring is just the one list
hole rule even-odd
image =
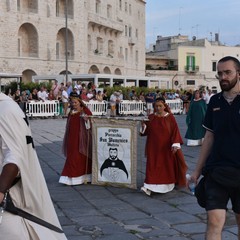
[[145, 113], [146, 104], [142, 101], [123, 100], [119, 103], [120, 115], [140, 115]]

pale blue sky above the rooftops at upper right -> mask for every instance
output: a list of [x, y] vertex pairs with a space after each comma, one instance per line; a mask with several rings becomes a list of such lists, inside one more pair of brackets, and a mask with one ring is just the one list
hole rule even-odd
[[240, 0], [146, 0], [146, 47], [178, 34], [240, 44]]

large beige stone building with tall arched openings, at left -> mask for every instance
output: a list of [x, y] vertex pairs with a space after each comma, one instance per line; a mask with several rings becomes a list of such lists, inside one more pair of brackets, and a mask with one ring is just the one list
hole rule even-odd
[[[0, 1], [0, 72], [145, 76], [144, 0]], [[66, 74], [67, 73], [67, 74]]]

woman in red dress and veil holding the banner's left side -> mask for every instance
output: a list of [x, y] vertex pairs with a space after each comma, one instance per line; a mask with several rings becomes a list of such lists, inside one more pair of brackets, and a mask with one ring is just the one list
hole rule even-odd
[[80, 98], [72, 98], [72, 110], [66, 124], [63, 152], [66, 162], [59, 179], [66, 185], [91, 182], [92, 133], [91, 111]]

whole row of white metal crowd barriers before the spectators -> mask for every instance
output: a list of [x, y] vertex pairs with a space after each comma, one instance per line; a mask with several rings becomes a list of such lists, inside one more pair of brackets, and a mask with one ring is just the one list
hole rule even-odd
[[[104, 116], [110, 111], [111, 104], [106, 101], [85, 102], [94, 116]], [[181, 99], [166, 100], [173, 114], [183, 113], [183, 101]], [[118, 111], [120, 115], [146, 115], [149, 104], [142, 101], [123, 100], [119, 103]], [[153, 106], [151, 105], [153, 112]], [[57, 100], [52, 101], [29, 101], [26, 104], [26, 115], [29, 117], [50, 117], [58, 116], [61, 112], [61, 103]]]

